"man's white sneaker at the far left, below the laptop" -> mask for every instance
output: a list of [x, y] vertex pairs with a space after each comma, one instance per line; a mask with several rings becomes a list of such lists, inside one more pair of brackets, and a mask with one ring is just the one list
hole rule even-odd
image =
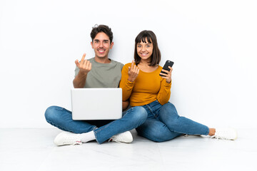
[[54, 139], [56, 145], [81, 145], [79, 134], [62, 132]]

